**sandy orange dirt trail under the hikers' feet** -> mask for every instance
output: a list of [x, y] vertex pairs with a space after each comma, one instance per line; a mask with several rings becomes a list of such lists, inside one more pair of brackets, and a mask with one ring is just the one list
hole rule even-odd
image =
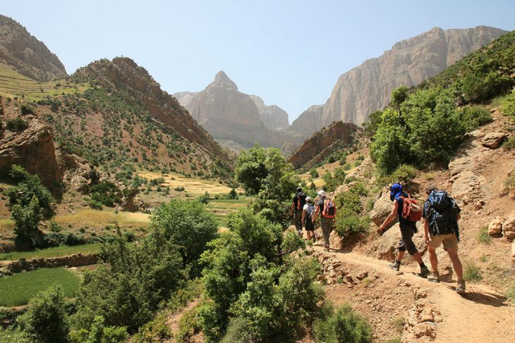
[[[322, 247], [315, 247], [322, 251]], [[356, 253], [329, 253], [347, 265], [367, 267], [376, 273], [408, 281], [413, 287], [429, 289], [428, 299], [440, 311], [433, 342], [514, 342], [515, 306], [502, 295], [483, 285], [467, 285], [463, 296], [454, 292], [455, 280], [428, 282], [418, 277], [414, 268], [404, 267], [402, 275], [394, 275], [386, 261], [379, 261]], [[408, 300], [408, 301], [411, 301]]]

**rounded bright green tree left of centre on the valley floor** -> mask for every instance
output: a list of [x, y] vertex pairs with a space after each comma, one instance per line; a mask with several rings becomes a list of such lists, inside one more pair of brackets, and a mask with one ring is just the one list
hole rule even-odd
[[198, 259], [207, 243], [217, 237], [213, 214], [197, 201], [174, 199], [154, 211], [151, 223], [156, 235], [178, 246], [183, 268], [190, 268], [192, 276], [200, 275]]

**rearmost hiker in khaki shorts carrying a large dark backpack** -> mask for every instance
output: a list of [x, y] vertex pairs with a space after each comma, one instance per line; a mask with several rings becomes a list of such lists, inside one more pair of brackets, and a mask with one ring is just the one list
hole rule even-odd
[[459, 227], [461, 209], [456, 201], [447, 194], [439, 191], [435, 185], [430, 185], [425, 189], [428, 200], [425, 201], [423, 209], [425, 242], [428, 244], [429, 261], [431, 263], [431, 274], [428, 280], [440, 282], [438, 273], [437, 247], [444, 244], [444, 250], [451, 258], [452, 266], [458, 277], [456, 292], [465, 292], [465, 280], [463, 278], [463, 267], [458, 257]]

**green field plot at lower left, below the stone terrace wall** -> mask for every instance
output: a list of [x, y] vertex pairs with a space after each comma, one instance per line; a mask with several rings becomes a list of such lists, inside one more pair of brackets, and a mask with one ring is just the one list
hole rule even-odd
[[22, 306], [37, 293], [57, 284], [70, 298], [79, 287], [79, 277], [65, 268], [37, 269], [0, 278], [0, 306]]

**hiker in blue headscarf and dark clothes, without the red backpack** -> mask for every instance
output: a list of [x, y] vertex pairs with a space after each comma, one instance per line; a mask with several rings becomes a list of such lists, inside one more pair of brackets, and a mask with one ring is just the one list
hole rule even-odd
[[390, 200], [394, 202], [394, 205], [392, 206], [392, 212], [390, 212], [388, 217], [379, 226], [377, 232], [382, 235], [387, 225], [391, 223], [395, 217], [397, 217], [397, 220], [399, 220], [399, 226], [401, 227], [402, 238], [399, 241], [399, 246], [397, 247], [399, 253], [397, 254], [395, 261], [390, 263], [388, 266], [393, 270], [399, 271], [401, 268], [402, 258], [404, 257], [404, 254], [407, 250], [408, 254], [413, 256], [415, 261], [417, 261], [418, 265], [420, 266], [420, 273], [418, 273], [418, 276], [427, 277], [430, 274], [430, 271], [423, 263], [422, 257], [420, 256], [415, 243], [413, 243], [413, 235], [417, 232], [416, 222], [407, 220], [402, 215], [404, 210], [404, 201], [406, 201], [406, 198], [408, 198], [408, 194], [403, 192], [402, 185], [399, 183], [394, 183], [394, 185], [390, 187]]

